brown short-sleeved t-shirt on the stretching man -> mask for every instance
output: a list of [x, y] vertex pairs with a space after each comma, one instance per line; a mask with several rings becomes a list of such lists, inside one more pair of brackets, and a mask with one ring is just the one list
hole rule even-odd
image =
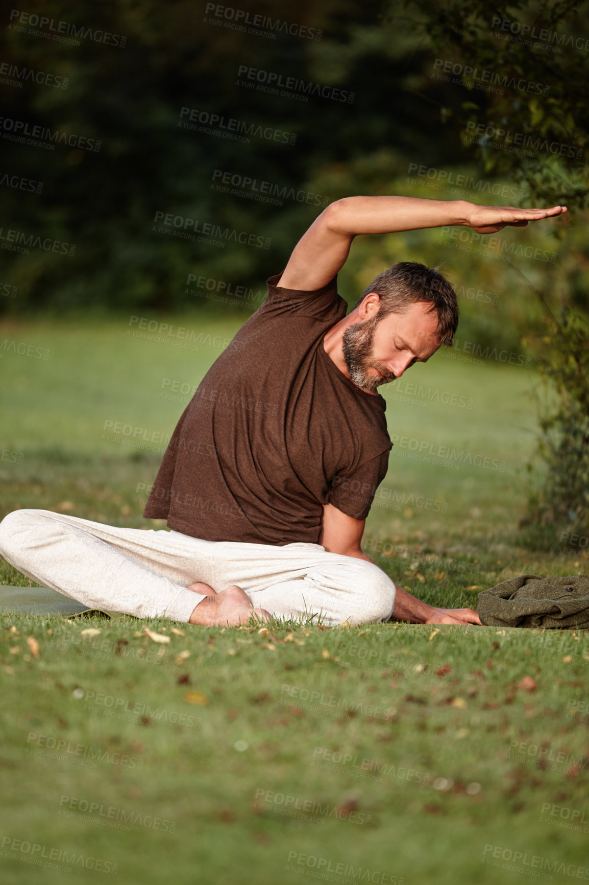
[[364, 519], [386, 474], [386, 403], [325, 353], [346, 316], [337, 277], [268, 296], [173, 432], [143, 516], [205, 541], [317, 543], [322, 504]]

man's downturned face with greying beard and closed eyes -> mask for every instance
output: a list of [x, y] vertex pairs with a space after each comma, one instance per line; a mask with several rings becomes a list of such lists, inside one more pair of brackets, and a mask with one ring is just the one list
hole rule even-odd
[[351, 381], [374, 393], [380, 384], [400, 378], [416, 362], [426, 362], [440, 347], [438, 316], [430, 302], [409, 304], [402, 313], [379, 312], [349, 326], [342, 337]]

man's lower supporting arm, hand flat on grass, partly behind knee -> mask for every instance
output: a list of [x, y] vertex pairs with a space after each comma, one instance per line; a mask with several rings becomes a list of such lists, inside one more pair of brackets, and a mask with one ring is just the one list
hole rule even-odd
[[[323, 524], [319, 543], [328, 553], [340, 553], [356, 559], [365, 559], [377, 565], [360, 547], [365, 519], [354, 519], [334, 507], [324, 504]], [[406, 620], [410, 624], [480, 624], [472, 609], [442, 609], [428, 605], [411, 596], [395, 583], [394, 610], [391, 620]]]

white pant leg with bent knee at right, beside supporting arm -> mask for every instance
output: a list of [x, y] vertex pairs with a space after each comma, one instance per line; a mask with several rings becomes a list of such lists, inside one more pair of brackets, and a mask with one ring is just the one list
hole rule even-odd
[[379, 566], [320, 544], [218, 542], [214, 555], [219, 585], [239, 584], [256, 608], [279, 618], [321, 613], [329, 627], [356, 627], [393, 613], [394, 582]]

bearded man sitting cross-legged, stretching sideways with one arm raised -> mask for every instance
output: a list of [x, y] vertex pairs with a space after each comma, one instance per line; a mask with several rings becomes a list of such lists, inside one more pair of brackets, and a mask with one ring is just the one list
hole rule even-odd
[[479, 624], [471, 609], [406, 593], [361, 549], [391, 448], [377, 389], [451, 344], [455, 293], [437, 271], [404, 262], [346, 316], [336, 277], [356, 235], [447, 225], [491, 234], [563, 212], [402, 196], [331, 204], [180, 417], [144, 511], [172, 531], [21, 510], [0, 525], [0, 551], [65, 596], [142, 618]]

